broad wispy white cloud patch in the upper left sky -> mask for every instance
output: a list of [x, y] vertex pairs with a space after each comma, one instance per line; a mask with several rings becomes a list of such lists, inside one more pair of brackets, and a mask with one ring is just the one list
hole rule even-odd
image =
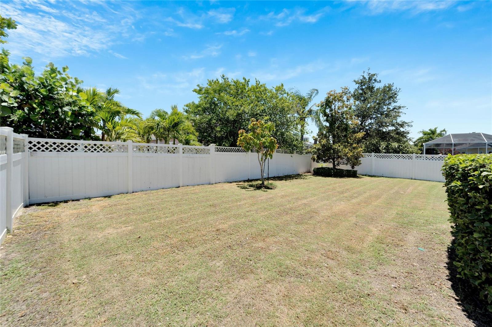
[[2, 3], [2, 15], [12, 17], [18, 24], [17, 29], [9, 31], [8, 49], [12, 54], [37, 53], [45, 60], [89, 55], [108, 50], [123, 38], [140, 35], [129, 31], [127, 22], [134, 22], [139, 15], [127, 6], [119, 6], [117, 13], [101, 9], [103, 18], [77, 3], [70, 3], [74, 6], [70, 9], [74, 10], [68, 10], [68, 6], [58, 8], [56, 4], [46, 1]]

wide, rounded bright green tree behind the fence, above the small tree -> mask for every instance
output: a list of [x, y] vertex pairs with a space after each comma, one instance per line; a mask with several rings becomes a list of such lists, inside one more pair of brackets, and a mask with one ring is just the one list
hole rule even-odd
[[275, 125], [273, 137], [281, 148], [300, 150], [302, 142], [295, 102], [283, 85], [273, 88], [246, 78], [209, 80], [193, 90], [198, 102], [188, 103], [188, 114], [202, 143], [236, 146], [237, 133], [245, 130], [251, 118]]

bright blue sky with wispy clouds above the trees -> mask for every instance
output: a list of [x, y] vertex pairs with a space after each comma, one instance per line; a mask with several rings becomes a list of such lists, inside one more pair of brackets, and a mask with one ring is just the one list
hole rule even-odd
[[401, 88], [412, 137], [435, 126], [492, 134], [490, 1], [2, 0], [0, 12], [19, 25], [12, 62], [68, 65], [145, 115], [182, 108], [220, 74], [317, 88], [319, 101], [370, 67]]

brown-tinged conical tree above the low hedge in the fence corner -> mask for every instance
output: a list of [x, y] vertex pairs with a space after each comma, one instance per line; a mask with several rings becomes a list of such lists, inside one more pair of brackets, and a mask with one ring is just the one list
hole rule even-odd
[[333, 168], [347, 164], [352, 169], [361, 164], [364, 132], [357, 132], [358, 122], [352, 112], [352, 97], [348, 87], [332, 90], [321, 101], [319, 112], [324, 127], [318, 132], [317, 144], [310, 152], [317, 163], [332, 163]]

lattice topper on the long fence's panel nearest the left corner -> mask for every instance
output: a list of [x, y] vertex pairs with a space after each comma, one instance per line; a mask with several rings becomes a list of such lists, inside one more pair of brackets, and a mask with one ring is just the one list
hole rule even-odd
[[44, 141], [29, 139], [30, 152], [95, 152], [95, 153], [125, 153], [128, 152], [126, 144], [111, 143], [82, 143], [66, 141]]

